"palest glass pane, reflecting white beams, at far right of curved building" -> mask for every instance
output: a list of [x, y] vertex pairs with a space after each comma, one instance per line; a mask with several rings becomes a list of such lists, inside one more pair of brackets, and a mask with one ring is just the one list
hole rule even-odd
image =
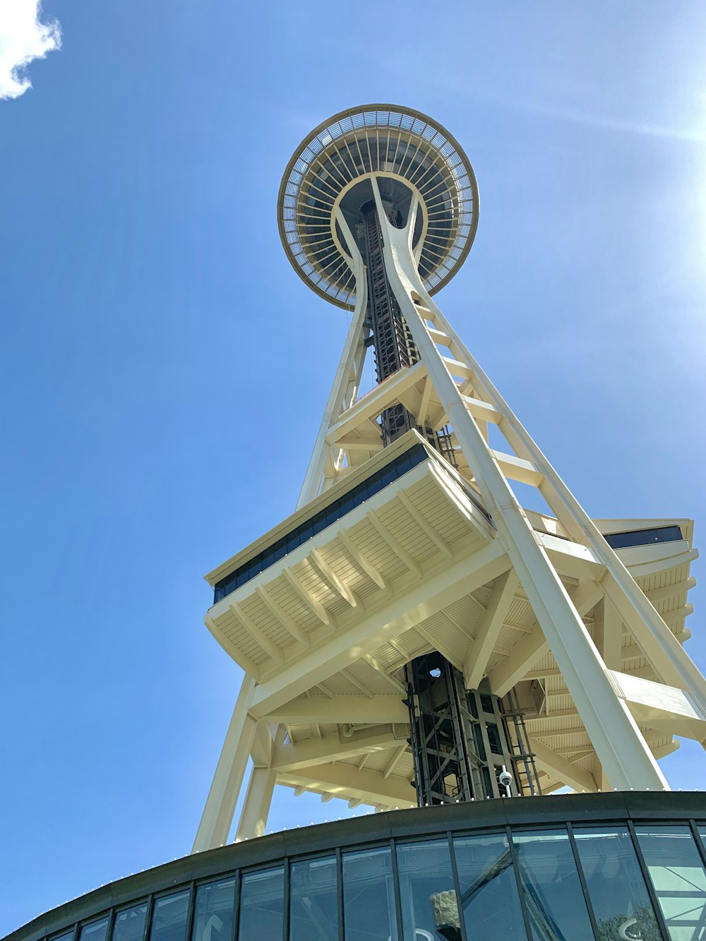
[[706, 938], [706, 873], [686, 826], [636, 830], [671, 941]]

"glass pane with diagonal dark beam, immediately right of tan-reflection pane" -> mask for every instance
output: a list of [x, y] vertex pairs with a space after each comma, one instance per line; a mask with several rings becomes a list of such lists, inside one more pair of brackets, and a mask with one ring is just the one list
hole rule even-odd
[[505, 835], [457, 837], [454, 852], [468, 941], [526, 938]]

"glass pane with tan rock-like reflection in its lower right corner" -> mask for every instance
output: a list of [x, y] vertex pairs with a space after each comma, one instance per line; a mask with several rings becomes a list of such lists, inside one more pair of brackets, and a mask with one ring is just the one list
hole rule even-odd
[[405, 941], [460, 941], [458, 904], [445, 839], [397, 844]]

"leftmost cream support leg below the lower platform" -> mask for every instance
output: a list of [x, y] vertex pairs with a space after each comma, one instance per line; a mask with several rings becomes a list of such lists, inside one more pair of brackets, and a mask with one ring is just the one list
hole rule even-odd
[[250, 746], [257, 726], [256, 720], [248, 711], [254, 691], [255, 680], [246, 674], [235, 703], [231, 724], [228, 726], [226, 741], [223, 742], [218, 758], [216, 774], [203, 808], [192, 853], [211, 850], [228, 842], [235, 805], [243, 784]]

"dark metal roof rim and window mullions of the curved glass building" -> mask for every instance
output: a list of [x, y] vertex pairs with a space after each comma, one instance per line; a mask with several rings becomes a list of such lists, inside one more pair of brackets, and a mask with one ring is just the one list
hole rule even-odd
[[[344, 908], [343, 908], [343, 854], [346, 852], [365, 852], [389, 847], [392, 856], [393, 871], [393, 892], [394, 892], [394, 917], [397, 922], [397, 931], [400, 941], [402, 935], [402, 912], [400, 901], [399, 869], [397, 865], [397, 846], [406, 844], [424, 843], [445, 839], [449, 845], [451, 854], [451, 867], [456, 887], [457, 896], [459, 895], [457, 859], [454, 849], [454, 837], [474, 837], [489, 835], [504, 835], [508, 839], [511, 857], [513, 860], [513, 869], [515, 872], [518, 889], [520, 891], [520, 902], [522, 915], [524, 917], [525, 929], [529, 933], [529, 920], [523, 890], [521, 887], [520, 872], [517, 867], [517, 854], [512, 836], [517, 832], [532, 832], [533, 830], [556, 830], [568, 834], [570, 840], [571, 852], [579, 873], [581, 888], [586, 899], [588, 914], [594, 933], [598, 937], [596, 919], [593, 912], [593, 906], [587, 891], [586, 877], [581, 865], [581, 860], [575, 845], [572, 823], [583, 827], [595, 827], [600, 830], [602, 827], [615, 827], [621, 825], [627, 828], [633, 842], [636, 859], [642, 872], [645, 885], [650, 897], [650, 902], [655, 913], [657, 924], [664, 938], [668, 941], [669, 935], [666, 929], [665, 918], [657, 901], [654, 886], [651, 883], [650, 873], [645, 864], [644, 856], [641, 852], [639, 842], [635, 835], [635, 825], [651, 825], [655, 827], [686, 826], [695, 840], [699, 858], [706, 868], [706, 846], [698, 832], [698, 826], [706, 825], [706, 799], [702, 794], [691, 794], [688, 792], [670, 792], [666, 794], [594, 794], [594, 795], [570, 795], [570, 796], [548, 796], [536, 797], [531, 800], [519, 800], [513, 798], [510, 800], [496, 800], [486, 802], [474, 802], [466, 805], [443, 805], [432, 808], [417, 808], [408, 811], [392, 811], [386, 814], [376, 814], [371, 822], [365, 819], [357, 818], [350, 821], [340, 821], [338, 823], [323, 824], [315, 827], [307, 827], [301, 831], [289, 831], [286, 837], [289, 837], [293, 845], [281, 847], [284, 852], [267, 853], [267, 844], [280, 837], [280, 844], [284, 842], [284, 835], [273, 835], [273, 837], [261, 837], [257, 841], [249, 841], [249, 844], [229, 845], [219, 850], [200, 853], [197, 856], [186, 857], [189, 862], [193, 861], [193, 868], [198, 869], [202, 863], [202, 857], [211, 856], [212, 858], [220, 856], [225, 852], [238, 852], [239, 848], [247, 847], [251, 853], [253, 844], [256, 849], [265, 850], [262, 853], [260, 861], [253, 860], [240, 867], [228, 867], [225, 869], [213, 869], [203, 873], [192, 873], [191, 878], [185, 878], [178, 882], [169, 878], [170, 870], [175, 865], [185, 865], [186, 860], [177, 860], [175, 863], [165, 864], [163, 867], [157, 867], [148, 873], [139, 873], [137, 876], [130, 877], [129, 880], [121, 880], [121, 883], [139, 880], [140, 877], [152, 877], [158, 883], [162, 880], [162, 885], [155, 885], [154, 890], [149, 893], [140, 891], [136, 893], [134, 899], [128, 900], [122, 898], [119, 903], [114, 905], [95, 907], [89, 905], [91, 896], [100, 895], [103, 890], [107, 890], [108, 897], [114, 897], [110, 891], [112, 886], [103, 886], [103, 889], [96, 889], [93, 893], [88, 893], [87, 897], [68, 902], [56, 909], [55, 913], [48, 913], [36, 919], [36, 922], [46, 922], [44, 930], [32, 931], [32, 922], [17, 932], [8, 935], [7, 941], [56, 941], [62, 935], [70, 933], [71, 941], [77, 941], [78, 932], [84, 925], [99, 920], [102, 917], [108, 917], [106, 929], [106, 941], [112, 941], [112, 932], [115, 926], [116, 917], [121, 912], [139, 904], [147, 904], [147, 914], [143, 929], [143, 941], [149, 941], [152, 932], [152, 919], [154, 912], [154, 903], [159, 899], [175, 895], [188, 890], [189, 903], [187, 909], [185, 925], [185, 941], [191, 941], [191, 934], [194, 927], [194, 912], [196, 904], [196, 890], [200, 885], [209, 885], [211, 883], [221, 882], [226, 879], [233, 879], [233, 941], [237, 941], [239, 931], [240, 899], [242, 895], [242, 879], [251, 872], [264, 871], [265, 869], [283, 868], [283, 904], [282, 904], [282, 938], [288, 941], [289, 934], [289, 872], [290, 865], [294, 862], [305, 862], [307, 860], [318, 859], [325, 856], [334, 857], [336, 861], [337, 875], [337, 921], [338, 936], [343, 939], [344, 935]], [[631, 806], [635, 804], [635, 806]], [[682, 806], [680, 806], [682, 805]], [[472, 811], [469, 814], [469, 810]], [[465, 813], [464, 813], [465, 811]], [[542, 812], [543, 811], [543, 812]], [[477, 825], [468, 820], [468, 816], [475, 813], [480, 817]], [[464, 819], [464, 817], [466, 819]], [[384, 827], [380, 826], [384, 819]], [[418, 821], [417, 825], [415, 822]], [[438, 825], [432, 825], [438, 821]], [[328, 834], [325, 837], [322, 832], [327, 828]], [[361, 829], [359, 839], [351, 838], [352, 829]], [[387, 836], [381, 833], [372, 835], [371, 829], [386, 829]], [[346, 832], [347, 831], [347, 832]], [[392, 834], [392, 835], [391, 835]], [[323, 838], [322, 838], [323, 837]], [[309, 846], [307, 847], [307, 843]], [[259, 844], [259, 846], [257, 845]], [[298, 845], [297, 845], [298, 844]], [[258, 853], [259, 854], [259, 853]], [[223, 861], [226, 862], [225, 860]], [[117, 885], [117, 884], [113, 884]], [[124, 885], [122, 886], [125, 887]], [[98, 901], [98, 899], [96, 899]], [[88, 904], [87, 904], [88, 903]], [[72, 920], [69, 913], [84, 906], [83, 917]], [[62, 911], [66, 915], [62, 917]], [[79, 914], [77, 911], [76, 914]], [[65, 920], [64, 920], [65, 918]], [[64, 920], [64, 924], [60, 922]], [[461, 936], [467, 937], [463, 913], [459, 908], [459, 923]]]

